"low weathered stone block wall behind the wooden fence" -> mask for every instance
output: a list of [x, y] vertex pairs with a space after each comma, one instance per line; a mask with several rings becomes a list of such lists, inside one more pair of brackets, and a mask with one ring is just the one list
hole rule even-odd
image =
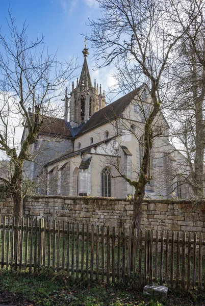
[[[1, 215], [12, 215], [11, 198], [0, 202]], [[24, 200], [24, 216], [61, 221], [129, 226], [133, 215], [130, 200], [93, 197], [43, 196]], [[142, 228], [205, 233], [205, 200], [143, 201]]]

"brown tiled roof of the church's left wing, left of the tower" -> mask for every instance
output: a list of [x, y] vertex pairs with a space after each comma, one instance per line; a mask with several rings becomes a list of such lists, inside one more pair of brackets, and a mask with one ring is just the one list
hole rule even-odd
[[60, 136], [63, 138], [70, 138], [72, 134], [67, 127], [67, 124], [64, 119], [47, 117], [39, 134], [49, 135], [49, 136]]

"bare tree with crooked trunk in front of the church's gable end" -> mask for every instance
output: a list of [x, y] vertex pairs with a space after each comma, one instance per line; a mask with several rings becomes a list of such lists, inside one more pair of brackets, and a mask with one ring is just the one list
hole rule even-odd
[[[133, 227], [140, 227], [142, 201], [149, 175], [150, 150], [153, 146], [153, 122], [159, 114], [167, 73], [174, 61], [174, 50], [189, 30], [192, 19], [180, 31], [173, 31], [172, 4], [169, 1], [97, 0], [102, 17], [90, 21], [92, 47], [97, 65], [115, 63], [119, 85], [123, 90], [149, 87], [152, 110], [144, 124], [143, 158], [138, 180], [123, 179], [135, 188]], [[178, 13], [185, 4], [177, 2]], [[192, 6], [186, 2], [188, 9]], [[100, 62], [100, 60], [102, 62]], [[118, 65], [119, 63], [119, 65]], [[120, 68], [120, 69], [119, 69]]]

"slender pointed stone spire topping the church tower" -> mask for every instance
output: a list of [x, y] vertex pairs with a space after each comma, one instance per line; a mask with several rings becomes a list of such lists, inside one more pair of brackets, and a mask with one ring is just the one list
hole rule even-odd
[[83, 63], [83, 68], [81, 71], [81, 77], [79, 80], [79, 87], [82, 89], [88, 89], [92, 86], [92, 81], [90, 78], [90, 72], [88, 69], [88, 63], [87, 63], [87, 56], [89, 55], [88, 53], [88, 48], [87, 48], [87, 38], [85, 39], [85, 48], [82, 51], [83, 55], [84, 55], [84, 63]]

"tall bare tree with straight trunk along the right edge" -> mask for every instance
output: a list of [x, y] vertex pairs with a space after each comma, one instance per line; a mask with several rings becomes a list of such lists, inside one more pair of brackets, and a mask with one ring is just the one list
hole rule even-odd
[[[174, 118], [173, 133], [183, 143], [188, 158], [190, 175], [187, 178], [195, 196], [203, 196], [204, 162], [204, 94], [205, 94], [205, 3], [191, 0], [183, 2], [178, 10], [177, 2], [170, 0], [173, 29], [185, 31], [178, 48], [175, 66], [172, 67], [171, 109]], [[173, 103], [174, 101], [174, 103]]]

